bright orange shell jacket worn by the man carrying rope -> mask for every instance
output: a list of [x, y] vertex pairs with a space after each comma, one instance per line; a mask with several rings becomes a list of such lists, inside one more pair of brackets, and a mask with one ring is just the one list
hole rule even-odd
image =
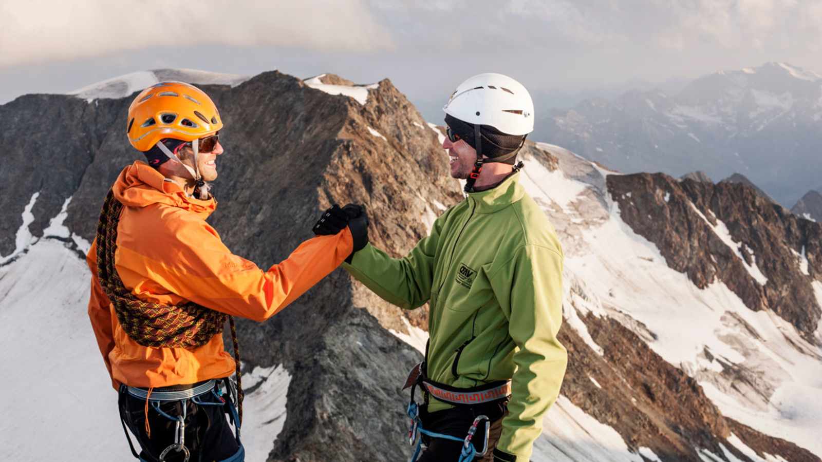
[[[351, 232], [344, 229], [305, 241], [285, 261], [263, 271], [233, 255], [205, 222], [216, 208], [214, 199], [187, 197], [178, 184], [139, 161], [122, 170], [113, 192], [124, 206], [115, 267], [126, 288], [150, 302], [192, 301], [265, 321], [335, 270], [353, 249]], [[144, 347], [129, 338], [97, 279], [96, 243], [86, 261], [91, 326], [115, 389], [121, 383], [172, 386], [233, 374], [234, 360], [224, 350], [222, 335], [196, 349]]]

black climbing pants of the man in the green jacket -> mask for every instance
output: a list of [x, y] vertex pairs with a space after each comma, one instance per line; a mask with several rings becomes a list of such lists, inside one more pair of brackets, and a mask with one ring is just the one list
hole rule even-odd
[[[499, 441], [502, 433], [502, 418], [508, 412], [507, 404], [507, 400], [496, 400], [491, 403], [459, 406], [435, 413], [427, 413], [427, 406], [423, 406], [420, 409], [420, 419], [423, 421], [423, 428], [429, 432], [464, 439], [473, 423], [473, 419], [478, 415], [486, 415], [491, 419], [491, 428], [488, 432], [488, 450], [484, 456], [480, 457], [478, 455], [473, 460], [474, 462], [491, 462], [494, 460], [493, 452], [496, 441]], [[419, 456], [418, 462], [456, 462], [459, 460], [463, 445], [461, 442], [428, 437], [427, 435], [422, 437], [426, 448], [423, 450], [423, 454]], [[479, 454], [483, 450], [485, 442], [484, 422], [477, 427], [477, 433], [474, 434], [471, 442], [477, 449], [477, 454]]]

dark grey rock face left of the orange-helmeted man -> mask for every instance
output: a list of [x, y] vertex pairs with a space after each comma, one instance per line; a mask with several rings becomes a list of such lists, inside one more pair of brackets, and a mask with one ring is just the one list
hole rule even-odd
[[[0, 256], [14, 252], [15, 234], [33, 194], [39, 192], [29, 231], [39, 238], [80, 186], [90, 164], [106, 158], [109, 137], [116, 136], [120, 144], [126, 141], [121, 122], [127, 106], [118, 99], [89, 104], [62, 95], [26, 95], [0, 105]], [[98, 212], [101, 204], [96, 205]]]

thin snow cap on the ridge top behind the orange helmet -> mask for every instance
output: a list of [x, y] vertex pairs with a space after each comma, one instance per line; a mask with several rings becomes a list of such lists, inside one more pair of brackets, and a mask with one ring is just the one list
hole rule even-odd
[[83, 99], [124, 98], [135, 91], [154, 85], [161, 81], [184, 81], [203, 85], [240, 85], [251, 76], [238, 74], [221, 74], [218, 72], [198, 71], [196, 69], [154, 69], [151, 71], [132, 72], [123, 76], [86, 85], [81, 89], [68, 92]]

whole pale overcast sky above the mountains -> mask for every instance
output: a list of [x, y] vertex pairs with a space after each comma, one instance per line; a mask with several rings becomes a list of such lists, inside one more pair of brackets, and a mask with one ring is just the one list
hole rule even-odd
[[822, 72], [822, 0], [0, 0], [0, 18], [0, 104], [161, 67], [388, 77], [427, 117], [479, 72], [535, 94]]

